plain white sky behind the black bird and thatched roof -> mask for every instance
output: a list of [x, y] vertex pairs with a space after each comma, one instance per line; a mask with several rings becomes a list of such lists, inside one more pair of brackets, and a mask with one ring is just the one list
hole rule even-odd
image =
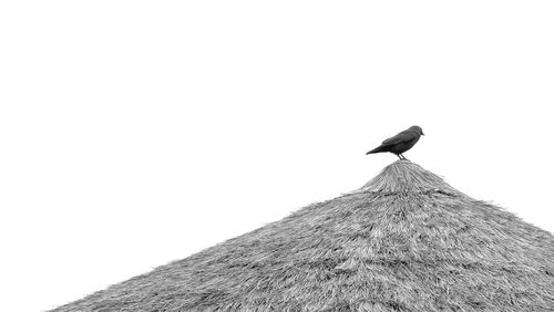
[[40, 311], [406, 154], [554, 231], [552, 1], [2, 1], [0, 310]]

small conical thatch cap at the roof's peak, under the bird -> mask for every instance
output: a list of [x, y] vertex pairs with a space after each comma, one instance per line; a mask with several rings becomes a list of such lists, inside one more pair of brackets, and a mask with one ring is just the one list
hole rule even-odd
[[384, 167], [379, 175], [356, 190], [371, 193], [423, 193], [444, 191], [461, 194], [438, 175], [410, 160], [397, 160]]

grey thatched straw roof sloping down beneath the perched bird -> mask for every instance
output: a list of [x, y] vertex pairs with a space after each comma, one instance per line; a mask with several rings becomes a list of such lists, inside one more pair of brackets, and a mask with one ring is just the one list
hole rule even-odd
[[554, 237], [397, 162], [54, 311], [554, 311]]

